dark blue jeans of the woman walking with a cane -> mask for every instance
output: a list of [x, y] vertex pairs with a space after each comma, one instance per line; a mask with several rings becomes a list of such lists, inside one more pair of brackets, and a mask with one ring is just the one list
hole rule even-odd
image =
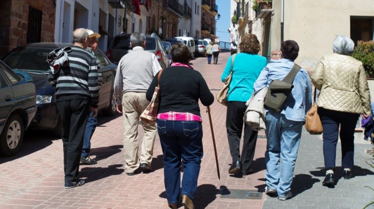
[[193, 200], [203, 157], [203, 127], [196, 121], [157, 119], [157, 132], [164, 154], [164, 182], [169, 203], [178, 203], [181, 185], [181, 160], [184, 172], [182, 192]]

